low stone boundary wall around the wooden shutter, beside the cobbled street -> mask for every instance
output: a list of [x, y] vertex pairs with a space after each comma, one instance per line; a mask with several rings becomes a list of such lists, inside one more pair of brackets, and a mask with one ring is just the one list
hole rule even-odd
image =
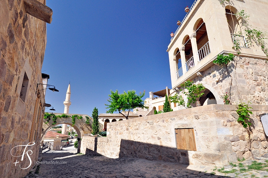
[[[268, 112], [268, 107], [252, 107], [250, 135], [237, 122], [235, 105], [212, 104], [110, 123], [107, 140], [83, 137], [81, 152], [111, 158], [226, 165], [237, 161], [237, 157], [252, 158], [268, 152], [267, 138], [259, 118], [259, 114]], [[194, 128], [197, 151], [177, 149], [176, 128]]]

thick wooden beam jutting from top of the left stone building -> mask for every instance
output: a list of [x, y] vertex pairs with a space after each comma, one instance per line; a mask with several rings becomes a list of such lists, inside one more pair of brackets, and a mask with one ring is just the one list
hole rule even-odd
[[53, 14], [51, 8], [37, 0], [23, 0], [23, 2], [28, 14], [43, 20], [44, 22], [51, 23]]

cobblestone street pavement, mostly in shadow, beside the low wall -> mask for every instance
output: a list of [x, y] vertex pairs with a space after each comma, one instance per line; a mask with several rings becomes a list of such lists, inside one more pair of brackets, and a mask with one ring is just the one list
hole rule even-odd
[[[112, 159], [105, 156], [89, 156], [75, 154], [73, 146], [60, 151], [44, 150], [42, 161], [58, 161], [67, 164], [35, 164], [35, 169], [26, 176], [35, 178], [85, 178], [85, 177], [179, 177], [179, 178], [223, 178], [223, 177], [266, 177], [263, 172], [254, 172], [247, 175], [221, 173], [217, 168], [209, 166], [194, 166], [178, 163], [149, 161], [133, 158]], [[228, 166], [226, 167], [228, 170]], [[216, 174], [216, 175], [213, 175]], [[261, 176], [262, 174], [262, 176]]]

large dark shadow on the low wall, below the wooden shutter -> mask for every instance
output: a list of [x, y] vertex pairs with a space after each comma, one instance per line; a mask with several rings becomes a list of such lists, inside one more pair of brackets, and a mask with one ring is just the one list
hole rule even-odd
[[141, 158], [146, 160], [178, 162], [189, 164], [188, 151], [131, 140], [121, 140], [120, 158]]

